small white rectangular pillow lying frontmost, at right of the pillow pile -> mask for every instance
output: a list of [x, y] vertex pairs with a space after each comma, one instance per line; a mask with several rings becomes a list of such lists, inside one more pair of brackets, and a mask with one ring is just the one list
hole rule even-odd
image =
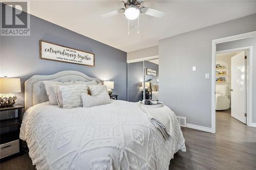
[[111, 99], [107, 91], [102, 91], [98, 95], [91, 96], [87, 93], [82, 93], [82, 106], [83, 107], [93, 107], [99, 105], [110, 104]]

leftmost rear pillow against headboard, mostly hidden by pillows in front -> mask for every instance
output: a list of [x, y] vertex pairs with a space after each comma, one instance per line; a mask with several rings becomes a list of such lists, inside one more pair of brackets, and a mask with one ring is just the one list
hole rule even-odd
[[61, 82], [55, 82], [55, 81], [42, 81], [42, 83], [45, 84], [45, 88], [46, 88], [46, 93], [48, 95], [48, 100], [52, 105], [57, 105], [57, 98], [56, 98], [56, 94], [54, 92], [53, 89], [53, 84], [70, 84], [70, 83], [74, 83], [74, 81], [70, 81], [70, 82], [66, 82], [66, 83], [61, 83]]

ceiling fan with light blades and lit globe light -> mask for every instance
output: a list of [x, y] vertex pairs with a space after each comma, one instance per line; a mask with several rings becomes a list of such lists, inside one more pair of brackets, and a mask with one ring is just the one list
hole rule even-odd
[[141, 6], [141, 3], [143, 3], [144, 0], [122, 0], [122, 2], [124, 3], [124, 8], [102, 14], [101, 16], [111, 17], [123, 13], [129, 20], [137, 19], [141, 13], [157, 18], [162, 18], [164, 16], [163, 11]]

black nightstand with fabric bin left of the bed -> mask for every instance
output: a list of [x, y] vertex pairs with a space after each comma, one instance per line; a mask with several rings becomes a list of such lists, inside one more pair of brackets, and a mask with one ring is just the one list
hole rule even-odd
[[23, 105], [13, 105], [10, 107], [0, 107], [1, 117], [1, 140], [0, 158], [7, 158], [22, 151], [22, 140], [19, 139], [20, 125], [22, 124]]

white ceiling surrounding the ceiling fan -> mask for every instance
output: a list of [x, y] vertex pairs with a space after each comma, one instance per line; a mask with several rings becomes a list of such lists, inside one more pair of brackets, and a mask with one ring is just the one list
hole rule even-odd
[[[140, 15], [140, 33], [127, 35], [123, 14], [100, 15], [123, 8], [116, 1], [31, 1], [30, 13], [125, 52], [158, 45], [158, 40], [256, 13], [256, 1], [148, 1], [165, 12], [161, 19]], [[235, 28], [234, 28], [235, 29]]]

